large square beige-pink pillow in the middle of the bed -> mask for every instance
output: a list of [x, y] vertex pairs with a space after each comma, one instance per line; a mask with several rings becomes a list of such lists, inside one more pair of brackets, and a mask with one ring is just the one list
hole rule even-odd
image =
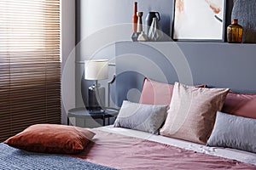
[[195, 88], [175, 82], [172, 101], [160, 135], [207, 144], [216, 112], [229, 88]]

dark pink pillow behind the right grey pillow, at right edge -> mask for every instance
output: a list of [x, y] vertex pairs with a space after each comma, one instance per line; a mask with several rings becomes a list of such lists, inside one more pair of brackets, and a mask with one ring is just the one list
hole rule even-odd
[[256, 94], [230, 92], [225, 99], [224, 113], [256, 119]]

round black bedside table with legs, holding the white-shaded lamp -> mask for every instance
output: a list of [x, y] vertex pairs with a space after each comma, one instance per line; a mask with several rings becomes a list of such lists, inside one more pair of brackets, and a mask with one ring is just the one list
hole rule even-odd
[[118, 110], [113, 110], [113, 109], [108, 109], [105, 111], [89, 111], [84, 107], [81, 108], [74, 108], [71, 109], [67, 112], [67, 125], [69, 125], [69, 117], [75, 117], [79, 119], [102, 119], [102, 125], [106, 125], [106, 118], [108, 118], [108, 125], [109, 125], [109, 118], [110, 117], [115, 117], [118, 116], [119, 111]]

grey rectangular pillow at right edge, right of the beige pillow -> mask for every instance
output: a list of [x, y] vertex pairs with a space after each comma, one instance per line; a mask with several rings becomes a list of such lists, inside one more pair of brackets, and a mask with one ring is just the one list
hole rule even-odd
[[209, 146], [229, 147], [256, 153], [256, 119], [217, 112]]

